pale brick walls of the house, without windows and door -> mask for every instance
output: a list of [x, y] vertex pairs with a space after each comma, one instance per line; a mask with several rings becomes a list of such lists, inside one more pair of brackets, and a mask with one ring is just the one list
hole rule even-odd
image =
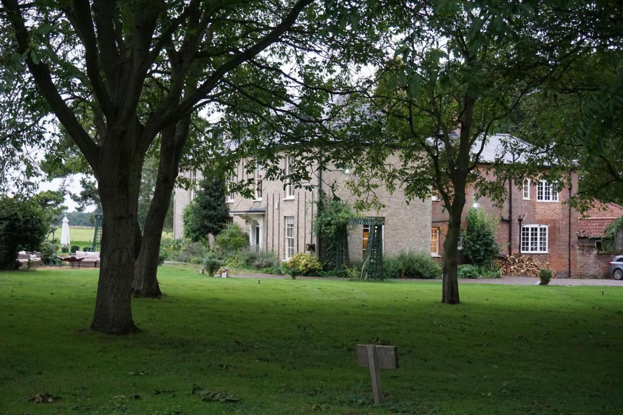
[[[244, 162], [239, 164], [235, 172], [237, 180], [242, 181], [247, 178], [253, 178], [253, 173], [246, 173], [242, 166], [244, 166]], [[283, 158], [280, 161], [280, 168], [285, 168], [285, 160]], [[254, 232], [255, 228], [245, 224], [245, 218], [242, 216], [246, 215], [242, 212], [258, 207], [265, 209], [261, 246], [263, 250], [275, 252], [280, 260], [285, 259], [285, 217], [287, 216], [294, 218], [294, 252], [308, 252], [305, 250], [306, 244], [316, 244], [316, 250], [318, 249], [318, 241], [316, 235], [312, 232], [312, 224], [317, 209], [319, 176], [322, 176], [323, 184], [321, 184], [321, 188], [325, 193], [330, 193], [327, 183], [336, 181], [339, 186], [336, 194], [341, 199], [351, 204], [356, 200], [350, 191], [343, 186], [343, 183], [348, 178], [348, 175], [343, 173], [343, 171], [332, 169], [319, 174], [315, 166], [310, 166], [310, 171], [310, 176], [313, 179], [312, 183], [308, 184], [315, 186], [312, 191], [302, 188], [295, 189], [294, 197], [286, 198], [282, 181], [264, 180], [262, 200], [245, 199], [239, 194], [235, 194], [233, 202], [229, 204], [229, 210], [234, 212], [234, 223], [238, 224], [245, 232]], [[189, 173], [184, 173], [184, 175], [189, 177]], [[197, 173], [197, 180], [199, 179], [200, 174]], [[303, 183], [303, 185], [305, 184]], [[366, 211], [362, 212], [362, 214], [363, 216], [385, 217], [384, 252], [387, 255], [397, 254], [401, 250], [423, 250], [429, 252], [430, 199], [427, 201], [411, 201], [407, 205], [404, 193], [400, 189], [397, 189], [394, 194], [390, 194], [384, 186], [377, 189], [376, 194], [386, 207], [379, 212]], [[182, 235], [181, 212], [184, 206], [187, 206], [189, 203], [190, 192], [178, 189], [174, 196], [175, 237], [181, 237]], [[259, 215], [253, 216], [257, 218]], [[249, 220], [247, 218], [247, 221], [250, 222], [251, 226], [256, 224], [255, 219]], [[349, 232], [351, 260], [361, 260], [362, 258], [362, 236], [362, 226], [353, 227]]]

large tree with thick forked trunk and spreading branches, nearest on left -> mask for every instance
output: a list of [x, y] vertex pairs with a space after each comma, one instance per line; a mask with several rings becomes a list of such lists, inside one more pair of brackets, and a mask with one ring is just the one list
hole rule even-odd
[[166, 211], [192, 113], [224, 90], [244, 89], [237, 70], [245, 63], [274, 67], [288, 59], [288, 49], [307, 44], [313, 27], [298, 18], [312, 2], [2, 0], [13, 59], [23, 62], [26, 79], [97, 179], [104, 220], [93, 330], [138, 330], [130, 307], [141, 250], [138, 193], [156, 136], [161, 160], [153, 208]]

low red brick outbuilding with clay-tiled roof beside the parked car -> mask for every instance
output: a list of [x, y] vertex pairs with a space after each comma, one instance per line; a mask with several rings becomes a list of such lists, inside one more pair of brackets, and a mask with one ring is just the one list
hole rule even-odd
[[[607, 275], [612, 252], [601, 252], [601, 239], [606, 236], [606, 228], [623, 216], [623, 207], [616, 203], [595, 203], [591, 209], [578, 217], [578, 276], [610, 277]], [[623, 248], [621, 235], [617, 238], [616, 249]]]

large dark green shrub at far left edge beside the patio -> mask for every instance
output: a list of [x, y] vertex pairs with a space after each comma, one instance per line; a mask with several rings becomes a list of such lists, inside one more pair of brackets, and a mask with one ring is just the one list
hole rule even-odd
[[16, 269], [20, 250], [39, 250], [49, 222], [35, 201], [0, 196], [0, 269]]

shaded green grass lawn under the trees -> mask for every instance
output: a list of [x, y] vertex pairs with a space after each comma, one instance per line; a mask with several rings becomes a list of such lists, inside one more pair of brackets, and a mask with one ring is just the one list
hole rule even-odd
[[[623, 408], [623, 289], [159, 272], [143, 329], [93, 333], [97, 270], [0, 273], [0, 414], [598, 414]], [[602, 290], [604, 290], [602, 295]], [[371, 405], [357, 343], [398, 347]], [[193, 385], [236, 402], [201, 401]], [[50, 393], [54, 403], [30, 402]], [[133, 397], [140, 396], [140, 399]]]

